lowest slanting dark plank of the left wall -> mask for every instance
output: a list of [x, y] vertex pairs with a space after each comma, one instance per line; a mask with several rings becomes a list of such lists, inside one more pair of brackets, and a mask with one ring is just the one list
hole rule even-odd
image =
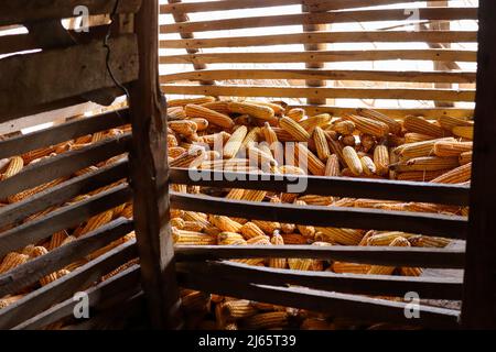
[[[140, 267], [133, 265], [122, 273], [110, 277], [109, 279], [99, 283], [95, 287], [86, 290], [88, 295], [89, 308], [98, 308], [98, 305], [108, 298], [114, 296], [123, 296], [120, 298], [129, 298], [130, 294], [139, 287]], [[121, 294], [125, 295], [121, 295]], [[12, 328], [12, 330], [36, 330], [46, 327], [47, 324], [60, 321], [64, 318], [71, 317], [74, 312], [74, 306], [77, 302], [74, 299], [66, 299], [37, 316], [23, 321], [19, 326]]]

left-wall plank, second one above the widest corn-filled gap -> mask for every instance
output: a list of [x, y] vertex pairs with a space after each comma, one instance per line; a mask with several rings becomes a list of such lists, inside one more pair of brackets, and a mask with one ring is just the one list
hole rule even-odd
[[85, 195], [106, 185], [114, 184], [129, 174], [127, 160], [104, 166], [98, 170], [51, 187], [15, 204], [0, 208], [0, 228], [20, 222], [25, 218], [53, 206], [61, 206], [78, 195]]

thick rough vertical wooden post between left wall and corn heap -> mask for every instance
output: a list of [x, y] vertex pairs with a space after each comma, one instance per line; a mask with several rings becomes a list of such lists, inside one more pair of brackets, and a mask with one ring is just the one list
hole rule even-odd
[[180, 298], [169, 223], [166, 107], [159, 87], [159, 7], [144, 0], [136, 18], [140, 74], [130, 90], [131, 185], [142, 286], [152, 327], [179, 329]]

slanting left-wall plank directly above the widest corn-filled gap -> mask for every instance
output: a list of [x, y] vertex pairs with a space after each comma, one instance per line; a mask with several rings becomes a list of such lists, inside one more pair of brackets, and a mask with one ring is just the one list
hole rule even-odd
[[0, 256], [30, 243], [37, 243], [57, 231], [74, 227], [93, 216], [128, 201], [130, 198], [129, 186], [120, 185], [8, 230], [0, 234]]

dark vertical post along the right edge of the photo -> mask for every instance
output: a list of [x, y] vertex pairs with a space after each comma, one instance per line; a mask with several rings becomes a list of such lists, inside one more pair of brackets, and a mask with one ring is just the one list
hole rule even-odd
[[496, 1], [479, 1], [477, 94], [462, 323], [496, 329]]

